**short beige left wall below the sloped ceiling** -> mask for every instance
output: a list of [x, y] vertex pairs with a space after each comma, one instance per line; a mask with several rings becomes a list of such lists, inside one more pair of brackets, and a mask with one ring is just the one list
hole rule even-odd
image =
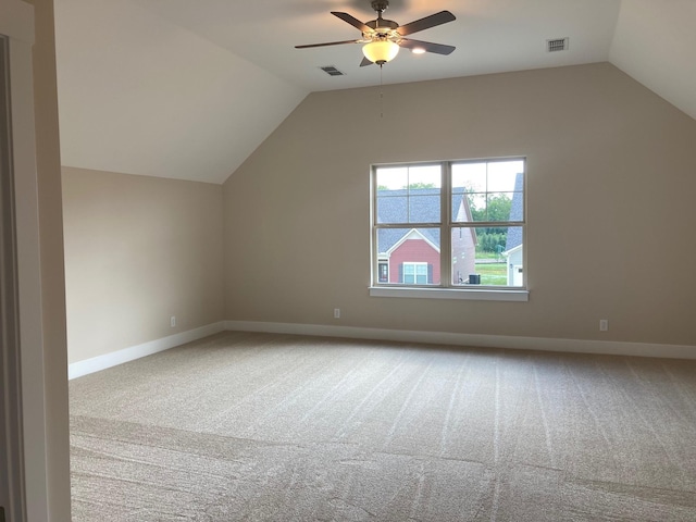
[[63, 167], [63, 201], [71, 363], [224, 319], [220, 185]]

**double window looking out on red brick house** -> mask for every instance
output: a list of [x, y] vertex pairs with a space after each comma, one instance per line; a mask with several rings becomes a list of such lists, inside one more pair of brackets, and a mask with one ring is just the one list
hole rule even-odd
[[373, 289], [525, 290], [523, 158], [377, 165], [372, 177]]

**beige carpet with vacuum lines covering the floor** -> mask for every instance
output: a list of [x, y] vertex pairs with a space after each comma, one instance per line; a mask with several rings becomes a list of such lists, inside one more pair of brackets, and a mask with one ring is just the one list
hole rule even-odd
[[76, 522], [696, 521], [696, 361], [224, 333], [70, 390]]

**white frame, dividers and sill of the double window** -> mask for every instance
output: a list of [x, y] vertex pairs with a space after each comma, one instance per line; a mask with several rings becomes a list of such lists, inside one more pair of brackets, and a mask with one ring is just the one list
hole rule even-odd
[[[452, 221], [451, 209], [451, 166], [453, 164], [461, 163], [492, 163], [498, 161], [515, 161], [520, 160], [524, 162], [524, 212], [522, 221], [514, 222], [475, 222], [467, 223], [465, 227], [521, 227], [524, 245], [523, 248], [523, 286], [485, 286], [485, 285], [472, 285], [472, 286], [457, 286], [451, 284], [452, 279], [452, 263], [449, 253], [451, 252], [451, 232], [453, 228], [462, 227], [462, 223]], [[442, 172], [442, 191], [440, 191], [440, 222], [439, 223], [398, 223], [398, 224], [377, 224], [377, 176], [376, 171], [380, 167], [385, 166], [421, 166], [421, 165], [440, 165]], [[530, 291], [527, 288], [527, 270], [526, 270], [526, 158], [525, 157], [509, 157], [509, 158], [483, 158], [471, 160], [446, 160], [438, 162], [410, 162], [410, 163], [381, 163], [374, 164], [370, 172], [370, 210], [371, 210], [371, 276], [370, 276], [370, 296], [371, 297], [398, 297], [398, 298], [426, 298], [426, 299], [465, 299], [465, 300], [495, 300], [495, 301], [529, 301]], [[440, 283], [439, 285], [407, 285], [400, 283], [395, 285], [394, 283], [380, 283], [378, 281], [378, 263], [384, 262], [378, 258], [377, 250], [377, 232], [381, 228], [386, 227], [412, 227], [419, 228], [423, 226], [438, 226], [440, 231]]]

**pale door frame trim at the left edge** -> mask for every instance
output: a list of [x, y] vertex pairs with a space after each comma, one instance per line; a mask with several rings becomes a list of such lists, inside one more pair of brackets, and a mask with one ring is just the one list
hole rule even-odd
[[[21, 423], [2, 419], [11, 438], [18, 440], [20, 471], [11, 473], [20, 522], [48, 521], [50, 514], [47, 459], [44, 326], [38, 215], [38, 179], [34, 120], [33, 55], [34, 7], [21, 0], [0, 0], [0, 34], [9, 39], [10, 111], [16, 288], [21, 374], [17, 415]], [[59, 195], [60, 197], [60, 195]], [[10, 368], [16, 373], [16, 368]], [[18, 481], [18, 484], [16, 482]]]

